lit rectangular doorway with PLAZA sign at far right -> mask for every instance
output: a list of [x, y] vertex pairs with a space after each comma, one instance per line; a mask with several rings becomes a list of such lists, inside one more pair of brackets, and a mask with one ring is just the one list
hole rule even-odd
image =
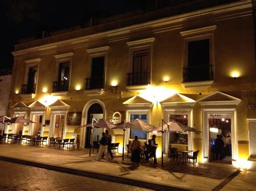
[[231, 114], [207, 114], [209, 160], [232, 164]]

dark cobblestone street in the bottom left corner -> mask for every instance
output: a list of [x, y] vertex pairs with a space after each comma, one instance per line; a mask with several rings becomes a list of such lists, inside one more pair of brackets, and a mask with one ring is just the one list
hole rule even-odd
[[147, 190], [122, 183], [108, 182], [49, 171], [47, 169], [0, 161], [4, 176], [0, 190]]

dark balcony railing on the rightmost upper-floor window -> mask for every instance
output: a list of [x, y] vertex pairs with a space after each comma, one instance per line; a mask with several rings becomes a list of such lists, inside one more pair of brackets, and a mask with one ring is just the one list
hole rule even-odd
[[213, 80], [213, 65], [183, 67], [183, 82]]

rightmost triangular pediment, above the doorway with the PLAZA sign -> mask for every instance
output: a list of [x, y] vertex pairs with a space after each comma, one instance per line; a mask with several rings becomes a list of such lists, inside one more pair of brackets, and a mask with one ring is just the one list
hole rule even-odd
[[216, 91], [206, 97], [197, 100], [200, 105], [237, 105], [241, 100], [237, 97]]

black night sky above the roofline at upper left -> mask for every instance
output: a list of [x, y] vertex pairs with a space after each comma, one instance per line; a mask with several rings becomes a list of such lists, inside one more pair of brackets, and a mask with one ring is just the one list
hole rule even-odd
[[84, 25], [87, 17], [106, 17], [140, 8], [139, 0], [0, 0], [2, 61], [12, 68], [18, 40], [39, 37], [43, 30], [56, 31]]

